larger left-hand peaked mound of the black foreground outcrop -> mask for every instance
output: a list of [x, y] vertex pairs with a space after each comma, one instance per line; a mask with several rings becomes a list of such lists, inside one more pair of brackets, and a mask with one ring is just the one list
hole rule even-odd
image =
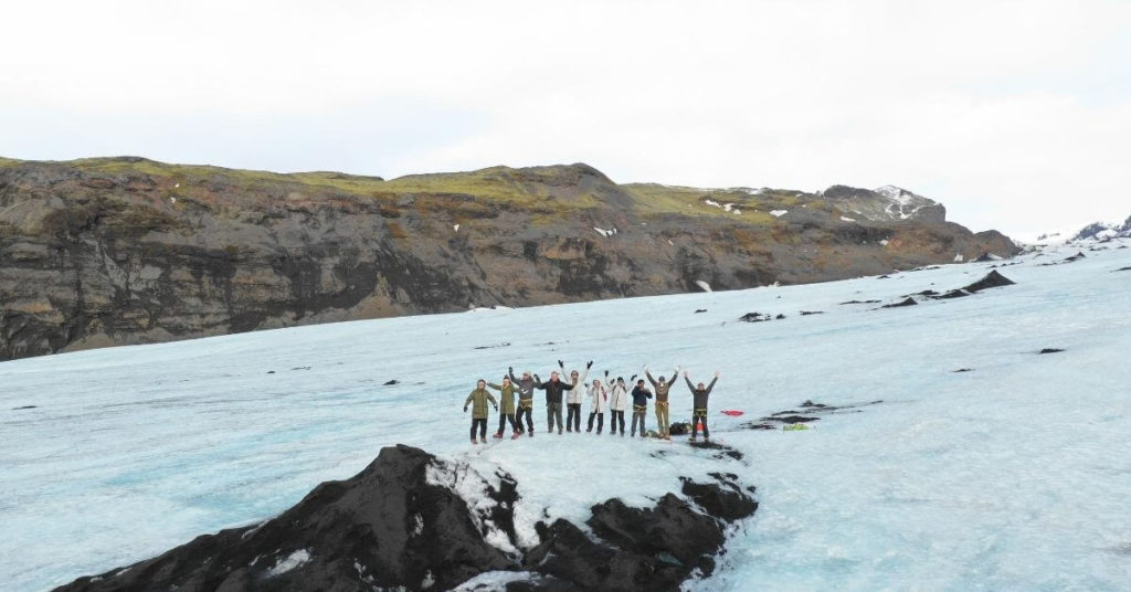
[[[198, 537], [128, 570], [58, 590], [417, 590], [425, 581], [448, 590], [486, 570], [516, 568], [484, 541], [463, 498], [429, 482], [438, 462], [418, 448], [385, 448], [357, 475], [318, 486], [259, 526]], [[492, 492], [504, 507], [517, 497]]]

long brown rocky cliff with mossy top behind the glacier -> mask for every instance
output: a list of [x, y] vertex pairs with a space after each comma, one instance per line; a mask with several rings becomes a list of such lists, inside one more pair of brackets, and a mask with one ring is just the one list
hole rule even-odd
[[582, 164], [386, 181], [0, 160], [0, 359], [1016, 252], [900, 191], [621, 186]]

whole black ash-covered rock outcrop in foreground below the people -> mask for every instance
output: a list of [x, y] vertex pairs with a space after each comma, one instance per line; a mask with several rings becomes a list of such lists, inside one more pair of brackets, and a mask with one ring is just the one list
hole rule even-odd
[[524, 547], [515, 525], [520, 483], [398, 445], [273, 520], [57, 592], [450, 590], [492, 572], [515, 573], [513, 591], [674, 591], [693, 573], [710, 574], [728, 525], [758, 507], [736, 475], [711, 477], [684, 479], [682, 495], [651, 508], [597, 504], [586, 523], [594, 535], [564, 520], [539, 522], [538, 541]]

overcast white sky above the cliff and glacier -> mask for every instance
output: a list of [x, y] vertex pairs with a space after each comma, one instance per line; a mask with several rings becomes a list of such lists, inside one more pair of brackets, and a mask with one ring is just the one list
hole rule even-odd
[[6, 2], [0, 155], [892, 183], [1131, 214], [1131, 1]]

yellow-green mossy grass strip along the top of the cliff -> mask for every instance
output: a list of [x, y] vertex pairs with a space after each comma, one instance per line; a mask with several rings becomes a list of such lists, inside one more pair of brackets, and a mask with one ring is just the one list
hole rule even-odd
[[[0, 158], [2, 166], [19, 164], [26, 163]], [[57, 164], [70, 165], [94, 175], [148, 175], [182, 186], [216, 183], [269, 195], [299, 192], [314, 200], [319, 196], [348, 195], [375, 199], [390, 204], [390, 207], [396, 207], [392, 204], [405, 197], [413, 197], [418, 205], [429, 208], [444, 208], [448, 207], [446, 204], [457, 209], [484, 208], [499, 204], [551, 218], [613, 203], [628, 205], [638, 215], [646, 217], [703, 216], [766, 226], [772, 225], [776, 220], [769, 211], [789, 209], [814, 199], [802, 191], [776, 189], [699, 189], [655, 183], [619, 186], [586, 164], [523, 169], [492, 166], [468, 172], [412, 174], [391, 180], [327, 171], [275, 173], [167, 164], [132, 156], [79, 158]], [[735, 204], [742, 213], [736, 215], [726, 212], [706, 204], [705, 199]]]

